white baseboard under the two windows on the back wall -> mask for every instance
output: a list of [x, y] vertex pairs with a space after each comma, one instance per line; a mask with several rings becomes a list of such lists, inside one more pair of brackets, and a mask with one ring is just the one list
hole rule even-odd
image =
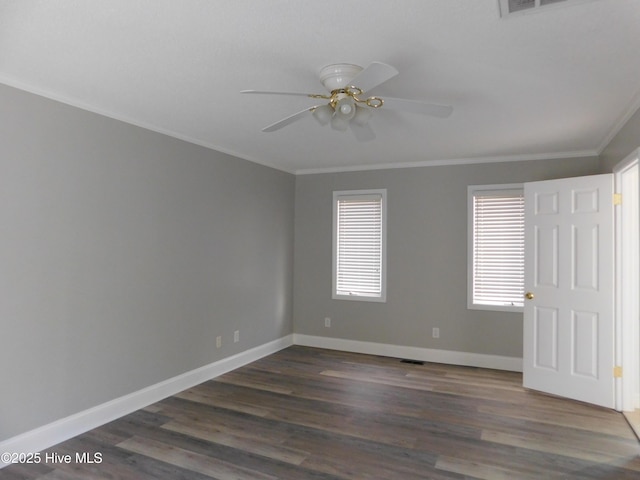
[[345, 352], [367, 353], [383, 357], [406, 358], [423, 362], [448, 363], [468, 367], [492, 368], [495, 370], [522, 371], [522, 358], [485, 355], [481, 353], [435, 350], [431, 348], [407, 347], [386, 343], [360, 342], [342, 338], [316, 337], [312, 335], [293, 335], [295, 345], [328, 348]]

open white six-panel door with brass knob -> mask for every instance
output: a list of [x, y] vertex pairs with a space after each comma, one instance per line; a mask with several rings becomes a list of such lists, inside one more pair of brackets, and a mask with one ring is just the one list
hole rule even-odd
[[524, 191], [524, 386], [613, 408], [613, 175]]

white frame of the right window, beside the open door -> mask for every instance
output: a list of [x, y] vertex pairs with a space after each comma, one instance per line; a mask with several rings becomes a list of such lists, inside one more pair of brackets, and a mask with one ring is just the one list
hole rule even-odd
[[[467, 230], [467, 238], [468, 238], [468, 253], [467, 253], [467, 272], [468, 272], [468, 281], [467, 281], [467, 308], [471, 310], [492, 310], [492, 311], [503, 311], [503, 312], [523, 312], [524, 310], [524, 297], [522, 298], [522, 304], [520, 305], [509, 305], [509, 304], [496, 304], [483, 302], [481, 300], [477, 300], [475, 298], [475, 285], [476, 285], [476, 266], [475, 266], [475, 197], [476, 195], [482, 194], [490, 194], [490, 193], [502, 193], [502, 194], [510, 194], [510, 193], [518, 193], [524, 194], [524, 185], [521, 183], [512, 183], [512, 184], [502, 184], [502, 185], [470, 185], [467, 190], [467, 202], [468, 202], [468, 230]], [[524, 223], [524, 217], [523, 217]], [[523, 225], [524, 226], [524, 225]], [[524, 236], [523, 243], [524, 247]], [[523, 265], [523, 273], [524, 273], [524, 251], [522, 258]], [[523, 287], [523, 295], [524, 295], [524, 282], [522, 284]]]

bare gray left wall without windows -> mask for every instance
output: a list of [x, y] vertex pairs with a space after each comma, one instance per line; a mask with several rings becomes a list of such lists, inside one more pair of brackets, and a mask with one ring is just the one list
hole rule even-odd
[[0, 441], [292, 332], [292, 175], [0, 105]]

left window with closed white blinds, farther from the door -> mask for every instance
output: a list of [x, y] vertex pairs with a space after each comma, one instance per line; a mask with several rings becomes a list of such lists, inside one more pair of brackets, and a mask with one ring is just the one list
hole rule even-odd
[[333, 192], [333, 298], [386, 300], [386, 195]]

